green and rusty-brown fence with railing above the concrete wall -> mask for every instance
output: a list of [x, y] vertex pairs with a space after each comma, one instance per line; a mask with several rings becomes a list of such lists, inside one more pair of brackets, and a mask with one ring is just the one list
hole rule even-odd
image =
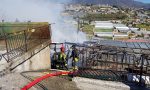
[[[3, 25], [4, 26], [4, 25]], [[2, 54], [7, 62], [24, 54], [38, 45], [50, 44], [50, 26], [48, 23], [9, 24], [2, 29], [1, 42], [6, 53]], [[23, 29], [23, 30], [22, 30]]]

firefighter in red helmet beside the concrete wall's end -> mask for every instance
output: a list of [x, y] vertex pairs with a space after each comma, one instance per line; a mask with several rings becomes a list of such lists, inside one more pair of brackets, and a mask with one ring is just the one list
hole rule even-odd
[[57, 68], [67, 70], [66, 54], [63, 46], [60, 48], [60, 53], [58, 55]]

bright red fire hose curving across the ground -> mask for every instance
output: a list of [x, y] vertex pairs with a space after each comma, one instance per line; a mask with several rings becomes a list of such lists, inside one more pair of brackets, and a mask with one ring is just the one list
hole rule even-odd
[[45, 76], [42, 76], [40, 78], [35, 79], [34, 81], [30, 82], [29, 84], [27, 84], [26, 86], [24, 86], [23, 88], [21, 88], [21, 90], [28, 90], [32, 86], [34, 86], [35, 84], [41, 82], [42, 80], [44, 80], [46, 78], [53, 77], [53, 76], [59, 76], [59, 75], [63, 75], [63, 74], [68, 75], [68, 74], [72, 74], [72, 73], [73, 72], [65, 72], [65, 71], [50, 73], [50, 74], [47, 74]]

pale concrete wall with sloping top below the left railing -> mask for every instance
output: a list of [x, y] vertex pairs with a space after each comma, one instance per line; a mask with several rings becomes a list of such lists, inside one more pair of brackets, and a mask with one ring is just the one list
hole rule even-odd
[[[39, 52], [40, 51], [40, 52]], [[19, 65], [20, 64], [20, 65]], [[50, 69], [50, 48], [39, 45], [7, 63], [4, 58], [0, 61], [0, 75], [12, 72]]]

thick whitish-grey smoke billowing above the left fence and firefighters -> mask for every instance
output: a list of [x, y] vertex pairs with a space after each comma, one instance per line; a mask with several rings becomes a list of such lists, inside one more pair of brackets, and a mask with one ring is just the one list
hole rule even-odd
[[62, 16], [64, 4], [69, 0], [1, 0], [0, 20], [13, 22], [49, 22], [52, 24], [53, 42], [83, 42], [86, 35], [77, 33], [70, 17]]

